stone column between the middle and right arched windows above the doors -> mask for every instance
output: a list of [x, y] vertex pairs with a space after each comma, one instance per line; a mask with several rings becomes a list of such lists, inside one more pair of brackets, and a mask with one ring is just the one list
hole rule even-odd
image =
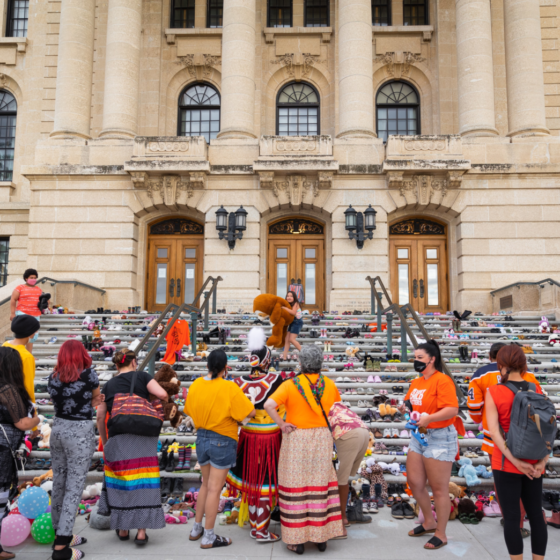
[[338, 2], [338, 89], [341, 136], [376, 136], [371, 0]]

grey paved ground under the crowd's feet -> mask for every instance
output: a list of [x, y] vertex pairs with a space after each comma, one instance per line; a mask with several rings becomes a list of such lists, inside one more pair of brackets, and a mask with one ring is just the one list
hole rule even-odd
[[[188, 534], [192, 519], [186, 525], [167, 526], [160, 531], [150, 531], [150, 542], [139, 548], [133, 542], [121, 542], [114, 532], [90, 529], [83, 517], [76, 521], [76, 532], [85, 536], [88, 542], [80, 547], [88, 560], [145, 560], [155, 556], [161, 560], [179, 558], [199, 558], [203, 560], [265, 560], [296, 556], [284, 544], [257, 545], [249, 537], [247, 529], [238, 526], [218, 527], [218, 534], [231, 537], [233, 544], [226, 548], [203, 551], [199, 543], [189, 542]], [[526, 522], [526, 527], [528, 523]], [[354, 525], [348, 531], [348, 540], [331, 541], [327, 551], [321, 553], [314, 545], [306, 545], [306, 557], [323, 560], [347, 560], [368, 558], [378, 560], [422, 560], [425, 558], [466, 558], [469, 560], [507, 560], [509, 556], [503, 539], [499, 519], [485, 519], [479, 525], [463, 525], [452, 521], [448, 526], [449, 544], [440, 550], [423, 549], [426, 538], [410, 538], [407, 532], [415, 527], [412, 520], [397, 521], [390, 516], [388, 508], [383, 508], [373, 516], [370, 525]], [[133, 536], [135, 532], [133, 532]], [[530, 539], [524, 540], [524, 558], [531, 558]], [[18, 560], [47, 560], [50, 546], [39, 545], [28, 539], [25, 544], [13, 549]], [[560, 529], [549, 527], [547, 558], [560, 558]]]

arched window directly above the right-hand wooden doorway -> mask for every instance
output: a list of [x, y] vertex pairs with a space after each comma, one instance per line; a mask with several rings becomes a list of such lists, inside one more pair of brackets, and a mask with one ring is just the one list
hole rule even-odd
[[420, 98], [405, 82], [390, 82], [377, 93], [377, 136], [420, 134]]

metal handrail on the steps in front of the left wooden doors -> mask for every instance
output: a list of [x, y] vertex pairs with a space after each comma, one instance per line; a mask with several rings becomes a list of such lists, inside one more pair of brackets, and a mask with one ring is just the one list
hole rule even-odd
[[[173, 316], [171, 317], [171, 319], [169, 320], [166, 327], [163, 329], [162, 333], [159, 335], [159, 337], [155, 341], [155, 343], [151, 345], [151, 348], [148, 350], [148, 354], [146, 355], [146, 357], [144, 358], [144, 360], [142, 361], [142, 363], [138, 367], [139, 371], [144, 371], [144, 368], [146, 367], [146, 365], [149, 365], [150, 369], [153, 370], [154, 357], [156, 355], [157, 349], [159, 348], [159, 345], [163, 342], [163, 340], [165, 339], [165, 337], [167, 336], [167, 334], [169, 333], [169, 331], [171, 330], [173, 325], [175, 325], [175, 323], [179, 320], [179, 318], [181, 317], [181, 314], [184, 311], [188, 311], [191, 315], [191, 321], [192, 321], [191, 344], [192, 344], [193, 350], [194, 350], [194, 348], [196, 348], [196, 332], [197, 332], [198, 316], [203, 311], [206, 311], [206, 319], [207, 319], [207, 317], [208, 317], [208, 306], [210, 305], [210, 298], [211, 297], [212, 297], [212, 302], [213, 302], [213, 307], [214, 307], [213, 312], [214, 313], [216, 312], [216, 309], [215, 309], [215, 304], [216, 304], [215, 294], [216, 294], [216, 291], [217, 291], [217, 288], [218, 288], [218, 282], [221, 282], [222, 280], [223, 280], [223, 278], [221, 276], [218, 276], [216, 278], [214, 278], [212, 276], [208, 276], [208, 278], [206, 279], [206, 281], [202, 285], [202, 288], [199, 290], [198, 294], [196, 295], [196, 297], [193, 301], [193, 304], [183, 303], [181, 305], [177, 305], [175, 303], [170, 303], [170, 304], [167, 305], [167, 307], [162, 311], [162, 313], [160, 314], [160, 316], [158, 317], [156, 322], [151, 326], [150, 330], [144, 335], [144, 337], [140, 341], [140, 344], [135, 349], [135, 353], [136, 353], [136, 355], [138, 355], [144, 349], [145, 345], [148, 343], [148, 341], [150, 340], [150, 337], [153, 335], [153, 333], [156, 331], [156, 329], [159, 327], [159, 325], [165, 320], [167, 315], [171, 311], [173, 311]], [[210, 288], [210, 290], [208, 290], [206, 292], [203, 292], [204, 288], [208, 285], [208, 282], [210, 282], [210, 281], [212, 282], [212, 287]], [[202, 302], [202, 305], [200, 307], [196, 307], [194, 305], [194, 303], [200, 299], [202, 293], [204, 293], [204, 301]], [[206, 328], [208, 328], [208, 324], [206, 324]], [[153, 371], [151, 371], [150, 373], [153, 373]]]

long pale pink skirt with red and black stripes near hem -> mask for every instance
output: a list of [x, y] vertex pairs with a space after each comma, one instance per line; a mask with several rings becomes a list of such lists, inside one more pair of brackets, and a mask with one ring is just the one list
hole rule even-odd
[[343, 533], [332, 450], [328, 428], [295, 430], [282, 437], [278, 489], [286, 544], [322, 543]]

